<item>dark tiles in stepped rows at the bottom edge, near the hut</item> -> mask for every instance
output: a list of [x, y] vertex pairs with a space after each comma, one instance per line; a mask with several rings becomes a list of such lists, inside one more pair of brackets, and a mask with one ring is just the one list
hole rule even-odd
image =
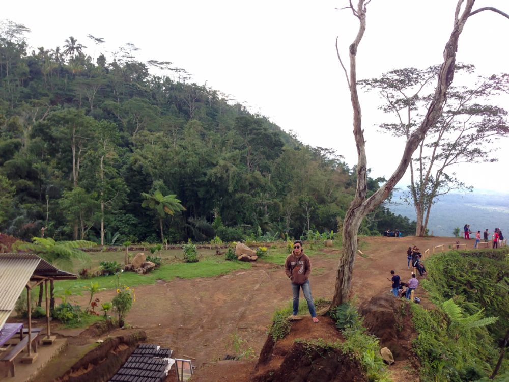
[[172, 350], [157, 345], [138, 345], [110, 382], [162, 382], [168, 374], [171, 355]]

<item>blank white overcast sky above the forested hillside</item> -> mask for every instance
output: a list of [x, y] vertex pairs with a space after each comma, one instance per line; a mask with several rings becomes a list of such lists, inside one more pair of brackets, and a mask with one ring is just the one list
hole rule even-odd
[[[335, 149], [353, 166], [357, 154], [350, 95], [334, 47], [338, 36], [348, 60], [358, 22], [350, 11], [335, 9], [346, 5], [347, 0], [25, 0], [4, 2], [0, 17], [31, 28], [32, 47], [63, 46], [73, 36], [96, 58], [101, 51], [133, 43], [140, 48], [138, 60], [171, 61], [192, 73], [197, 84], [245, 102], [304, 143]], [[506, 0], [477, 0], [474, 9], [486, 6], [509, 13]], [[358, 78], [441, 63], [455, 7], [456, 0], [372, 0], [357, 54]], [[105, 44], [96, 46], [89, 34], [104, 38]], [[508, 19], [487, 11], [474, 15], [460, 37], [457, 61], [474, 64], [476, 74], [507, 71], [508, 37]], [[360, 99], [368, 167], [373, 177], [388, 177], [404, 141], [377, 130], [385, 118], [377, 110], [379, 98], [361, 93]], [[507, 98], [497, 102], [509, 107]], [[500, 140], [500, 146], [507, 143]], [[462, 165], [456, 172], [475, 188], [506, 191], [508, 152], [497, 152], [498, 163]]]

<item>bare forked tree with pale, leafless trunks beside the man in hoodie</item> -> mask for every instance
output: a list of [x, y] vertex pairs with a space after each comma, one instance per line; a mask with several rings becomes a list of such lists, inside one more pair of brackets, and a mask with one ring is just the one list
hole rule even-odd
[[470, 16], [485, 10], [491, 10], [509, 18], [509, 15], [492, 7], [484, 7], [472, 11], [475, 0], [458, 0], [454, 15], [453, 31], [445, 44], [443, 52], [444, 59], [438, 72], [438, 83], [433, 96], [430, 98], [426, 115], [423, 117], [420, 126], [409, 135], [403, 149], [401, 160], [387, 182], [383, 184], [373, 195], [367, 197], [367, 160], [364, 130], [362, 129], [361, 106], [357, 93], [358, 84], [356, 60], [357, 49], [366, 30], [366, 6], [370, 3], [370, 1], [371, 0], [358, 0], [357, 7], [354, 7], [350, 1], [350, 5], [346, 7], [347, 9], [350, 9], [353, 15], [359, 20], [357, 36], [349, 48], [350, 74], [348, 74], [347, 69], [343, 65], [339, 49], [337, 48], [336, 39], [337, 56], [347, 78], [353, 108], [353, 133], [357, 147], [357, 187], [354, 199], [352, 200], [343, 221], [343, 253], [337, 268], [334, 296], [331, 303], [332, 306], [341, 305], [349, 299], [352, 286], [353, 265], [355, 261], [355, 253], [357, 251], [357, 233], [362, 219], [368, 213], [373, 211], [376, 206], [380, 205], [385, 199], [387, 199], [395, 185], [405, 174], [412, 159], [413, 152], [417, 149], [420, 142], [426, 137], [428, 131], [435, 126], [442, 115], [443, 106], [447, 99], [447, 91], [454, 77], [458, 40], [467, 20]]

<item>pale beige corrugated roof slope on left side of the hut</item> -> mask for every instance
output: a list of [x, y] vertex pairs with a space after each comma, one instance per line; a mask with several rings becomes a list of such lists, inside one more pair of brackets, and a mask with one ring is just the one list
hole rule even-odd
[[41, 261], [41, 258], [35, 255], [15, 255], [0, 254], [0, 328], [13, 311], [19, 295]]

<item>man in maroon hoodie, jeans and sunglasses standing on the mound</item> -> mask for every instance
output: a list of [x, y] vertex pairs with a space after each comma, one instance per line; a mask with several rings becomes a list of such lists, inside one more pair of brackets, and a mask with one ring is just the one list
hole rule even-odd
[[302, 293], [304, 293], [304, 297], [307, 301], [307, 308], [309, 309], [311, 317], [313, 317], [313, 322], [319, 322], [308, 279], [311, 274], [311, 261], [309, 257], [304, 254], [302, 241], [294, 241], [293, 251], [288, 255], [285, 261], [285, 272], [290, 280], [292, 280], [293, 315], [290, 317], [295, 318], [299, 312], [299, 293], [300, 288], [302, 288]]

